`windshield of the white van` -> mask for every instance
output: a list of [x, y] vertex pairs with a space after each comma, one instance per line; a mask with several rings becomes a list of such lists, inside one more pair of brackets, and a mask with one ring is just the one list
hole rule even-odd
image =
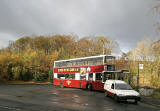
[[132, 87], [128, 84], [116, 83], [115, 84], [115, 89], [118, 89], [118, 90], [132, 90]]

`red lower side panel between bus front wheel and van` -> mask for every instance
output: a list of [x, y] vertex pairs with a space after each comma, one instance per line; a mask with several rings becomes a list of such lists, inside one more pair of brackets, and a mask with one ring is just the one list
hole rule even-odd
[[98, 90], [98, 91], [104, 90], [104, 83], [102, 83], [101, 81], [92, 81], [91, 83], [93, 90]]

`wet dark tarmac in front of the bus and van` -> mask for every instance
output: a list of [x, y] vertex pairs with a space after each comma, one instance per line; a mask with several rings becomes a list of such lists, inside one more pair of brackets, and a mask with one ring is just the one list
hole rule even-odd
[[103, 92], [53, 85], [0, 85], [0, 111], [160, 111], [139, 102], [116, 103]]

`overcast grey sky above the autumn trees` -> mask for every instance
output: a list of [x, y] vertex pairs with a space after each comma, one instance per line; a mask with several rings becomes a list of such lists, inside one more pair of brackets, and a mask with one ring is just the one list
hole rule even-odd
[[0, 48], [27, 35], [108, 36], [122, 51], [157, 39], [153, 0], [0, 0]]

